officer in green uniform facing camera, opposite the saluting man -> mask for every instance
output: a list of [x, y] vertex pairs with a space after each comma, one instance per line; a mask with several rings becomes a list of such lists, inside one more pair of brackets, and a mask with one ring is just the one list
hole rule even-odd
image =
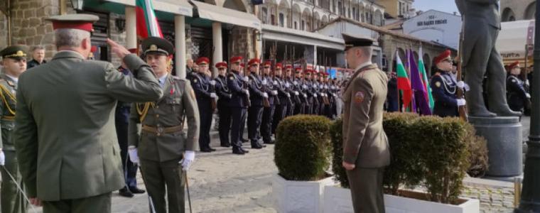
[[[187, 80], [167, 72], [171, 43], [150, 37], [142, 42], [144, 58], [163, 87], [156, 102], [131, 106], [129, 117], [129, 157], [141, 164], [141, 173], [156, 213], [184, 212], [185, 171], [195, 160], [199, 141], [199, 111], [195, 93]], [[183, 131], [188, 120], [187, 136]], [[142, 124], [139, 133], [137, 124]]]

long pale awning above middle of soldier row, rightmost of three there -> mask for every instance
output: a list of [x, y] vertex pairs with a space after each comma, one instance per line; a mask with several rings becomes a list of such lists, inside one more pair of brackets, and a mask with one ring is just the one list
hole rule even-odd
[[262, 26], [262, 38], [290, 43], [301, 43], [304, 45], [316, 45], [318, 47], [335, 50], [343, 50], [345, 47], [342, 38], [332, 38], [319, 33], [298, 31], [268, 24]]

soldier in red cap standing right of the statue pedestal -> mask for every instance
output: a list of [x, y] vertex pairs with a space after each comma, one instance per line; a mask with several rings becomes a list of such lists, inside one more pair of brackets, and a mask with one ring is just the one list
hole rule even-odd
[[519, 79], [522, 68], [519, 62], [508, 65], [510, 73], [507, 77], [508, 105], [513, 111], [523, 111], [523, 108], [531, 99], [531, 95], [525, 90], [525, 82]]

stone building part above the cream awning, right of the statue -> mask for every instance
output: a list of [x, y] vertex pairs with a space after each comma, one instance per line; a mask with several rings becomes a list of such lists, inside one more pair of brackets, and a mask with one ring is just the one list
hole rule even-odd
[[535, 0], [501, 0], [501, 21], [534, 19]]

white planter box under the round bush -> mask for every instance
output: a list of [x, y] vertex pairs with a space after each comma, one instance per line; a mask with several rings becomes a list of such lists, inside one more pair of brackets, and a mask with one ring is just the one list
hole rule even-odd
[[279, 213], [323, 212], [325, 186], [335, 185], [333, 177], [319, 181], [291, 181], [274, 175], [272, 197]]

